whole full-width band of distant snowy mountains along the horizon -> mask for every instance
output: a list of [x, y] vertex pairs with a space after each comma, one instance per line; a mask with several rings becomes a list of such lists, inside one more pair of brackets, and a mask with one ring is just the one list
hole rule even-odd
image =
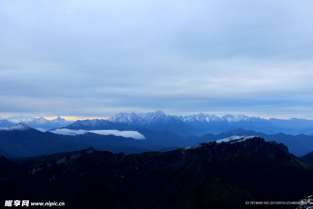
[[19, 122], [27, 123], [34, 128], [44, 128], [46, 130], [56, 130], [64, 126], [66, 126], [64, 128], [76, 130], [88, 130], [87, 128], [91, 126], [97, 127], [96, 130], [133, 130], [136, 128], [148, 128], [155, 132], [167, 130], [184, 137], [191, 135], [202, 136], [207, 133], [219, 134], [238, 128], [266, 134], [313, 134], [313, 120], [307, 119], [264, 119], [260, 117], [231, 114], [218, 117], [204, 113], [190, 116], [172, 116], [166, 115], [161, 110], [145, 114], [121, 112], [106, 120], [78, 120], [76, 122], [65, 121], [60, 117], [54, 120], [46, 120], [42, 117], [15, 116], [11, 118], [0, 118], [0, 127], [11, 127]]

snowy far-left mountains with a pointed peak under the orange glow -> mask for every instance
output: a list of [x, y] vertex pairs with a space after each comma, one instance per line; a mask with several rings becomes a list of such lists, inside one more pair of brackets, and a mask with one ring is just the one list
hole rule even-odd
[[74, 123], [74, 121], [66, 121], [64, 118], [61, 118], [60, 116], [53, 120], [47, 120], [43, 117], [34, 118], [31, 116], [13, 116], [10, 118], [0, 118], [0, 127], [8, 128], [20, 122], [27, 123], [28, 125], [34, 128], [44, 128], [46, 130]]

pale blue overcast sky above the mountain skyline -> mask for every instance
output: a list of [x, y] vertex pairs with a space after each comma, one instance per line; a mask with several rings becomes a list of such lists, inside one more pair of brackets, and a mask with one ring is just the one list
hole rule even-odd
[[313, 119], [313, 2], [0, 1], [0, 116]]

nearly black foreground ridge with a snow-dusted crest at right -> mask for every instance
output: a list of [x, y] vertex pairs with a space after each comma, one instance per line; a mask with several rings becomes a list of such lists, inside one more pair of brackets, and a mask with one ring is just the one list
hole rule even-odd
[[295, 208], [312, 193], [312, 164], [260, 137], [231, 137], [173, 151], [125, 155], [93, 148], [43, 158], [0, 158], [5, 200], [62, 208]]

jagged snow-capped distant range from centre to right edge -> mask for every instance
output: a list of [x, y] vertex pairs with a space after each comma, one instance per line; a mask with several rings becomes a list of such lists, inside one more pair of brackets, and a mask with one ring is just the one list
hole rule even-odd
[[[312, 134], [313, 120], [291, 118], [285, 119], [264, 119], [260, 117], [249, 117], [246, 115], [227, 114], [222, 117], [216, 115], [208, 115], [200, 112], [197, 115], [176, 116], [166, 115], [161, 110], [144, 113], [119, 113], [109, 119], [111, 122], [125, 123], [131, 126], [141, 128], [150, 128], [154, 131], [168, 130], [171, 133], [187, 136], [203, 135], [204, 133], [218, 134], [223, 131], [243, 128], [246, 130], [254, 130], [263, 133], [279, 133], [286, 134]], [[185, 125], [182, 125], [182, 123]], [[160, 124], [164, 124], [162, 126]], [[174, 128], [172, 126], [175, 126]], [[186, 126], [187, 125], [187, 126]], [[172, 128], [172, 130], [169, 130]], [[185, 134], [179, 134], [177, 130], [184, 130]]]

